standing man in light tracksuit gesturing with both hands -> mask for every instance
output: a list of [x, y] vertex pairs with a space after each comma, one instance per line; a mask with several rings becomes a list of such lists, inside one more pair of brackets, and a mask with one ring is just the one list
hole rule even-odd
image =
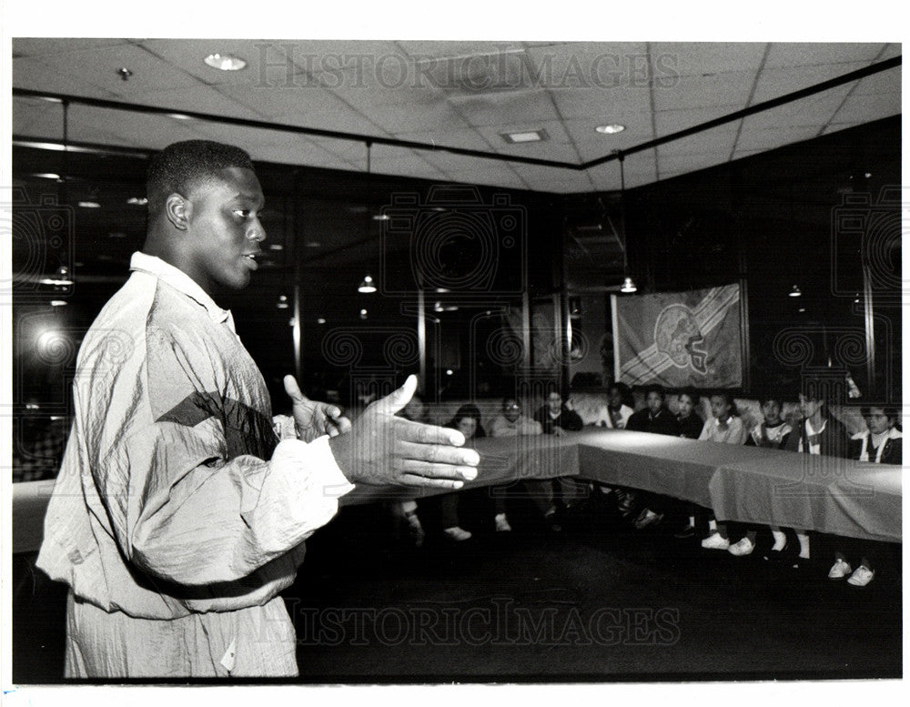
[[455, 430], [395, 416], [414, 377], [353, 428], [288, 377], [294, 420], [278, 439], [265, 381], [212, 298], [247, 286], [266, 237], [247, 153], [168, 146], [147, 188], [143, 251], [79, 352], [38, 558], [70, 585], [66, 677], [296, 675], [278, 592], [339, 497], [361, 481], [458, 489], [478, 456]]

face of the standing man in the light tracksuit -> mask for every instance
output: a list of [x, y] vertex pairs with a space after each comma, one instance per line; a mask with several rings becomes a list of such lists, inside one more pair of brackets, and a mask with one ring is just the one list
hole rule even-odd
[[187, 200], [188, 258], [184, 270], [211, 293], [243, 289], [258, 266], [254, 257], [266, 231], [259, 222], [265, 201], [251, 169], [227, 167], [193, 187]]

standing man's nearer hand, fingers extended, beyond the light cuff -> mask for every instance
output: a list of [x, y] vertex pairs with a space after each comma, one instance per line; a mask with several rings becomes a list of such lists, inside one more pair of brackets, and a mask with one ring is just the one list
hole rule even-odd
[[350, 434], [329, 439], [342, 473], [351, 483], [460, 489], [477, 477], [480, 457], [460, 449], [457, 429], [425, 425], [396, 416], [417, 389], [417, 378], [372, 403]]

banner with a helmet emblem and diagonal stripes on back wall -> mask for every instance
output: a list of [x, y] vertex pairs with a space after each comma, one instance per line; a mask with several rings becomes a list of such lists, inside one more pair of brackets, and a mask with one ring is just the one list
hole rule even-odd
[[612, 296], [617, 380], [665, 388], [743, 384], [740, 288]]

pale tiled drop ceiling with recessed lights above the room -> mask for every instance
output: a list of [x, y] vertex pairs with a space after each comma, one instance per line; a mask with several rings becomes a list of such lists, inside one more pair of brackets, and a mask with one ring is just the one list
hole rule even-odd
[[[203, 63], [212, 53], [248, 66], [219, 71]], [[625, 187], [637, 187], [895, 116], [900, 56], [901, 45], [885, 43], [17, 38], [13, 86], [76, 96], [66, 121], [73, 143], [152, 150], [204, 137], [258, 160], [362, 172], [373, 140], [373, 173], [569, 194], [619, 189], [617, 150], [628, 151]], [[874, 70], [888, 61], [896, 66]], [[594, 129], [607, 124], [625, 130]], [[14, 96], [16, 138], [60, 141], [63, 125], [61, 104]], [[547, 139], [502, 137], [533, 130]], [[636, 149], [652, 141], [660, 144]]]

